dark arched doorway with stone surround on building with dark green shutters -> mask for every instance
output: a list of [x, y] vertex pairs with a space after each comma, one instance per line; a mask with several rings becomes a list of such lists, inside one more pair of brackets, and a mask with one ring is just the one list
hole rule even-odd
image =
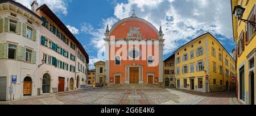
[[43, 82], [42, 82], [43, 93], [49, 93], [50, 84], [51, 84], [51, 77], [48, 73], [45, 73], [43, 76]]

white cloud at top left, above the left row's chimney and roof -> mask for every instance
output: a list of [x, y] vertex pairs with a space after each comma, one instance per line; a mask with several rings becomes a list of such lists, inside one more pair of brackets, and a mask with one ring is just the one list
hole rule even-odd
[[[31, 4], [34, 0], [16, 0], [16, 2], [31, 9]], [[39, 6], [46, 4], [55, 13], [68, 14], [68, 2], [72, 0], [37, 0]]]

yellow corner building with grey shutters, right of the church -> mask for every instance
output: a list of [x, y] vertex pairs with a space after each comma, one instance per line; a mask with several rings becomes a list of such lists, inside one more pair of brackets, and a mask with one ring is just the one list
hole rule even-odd
[[213, 35], [201, 35], [174, 53], [176, 88], [200, 92], [236, 88], [232, 81], [236, 72], [234, 59]]

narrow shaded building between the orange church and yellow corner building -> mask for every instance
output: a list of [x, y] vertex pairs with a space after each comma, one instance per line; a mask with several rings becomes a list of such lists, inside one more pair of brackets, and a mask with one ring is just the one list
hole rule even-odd
[[175, 87], [175, 55], [163, 61], [164, 86]]

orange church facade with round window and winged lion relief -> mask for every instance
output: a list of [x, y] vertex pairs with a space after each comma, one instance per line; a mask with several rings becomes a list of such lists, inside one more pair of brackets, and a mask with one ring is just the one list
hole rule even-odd
[[133, 14], [105, 33], [107, 84], [163, 84], [163, 32]]

